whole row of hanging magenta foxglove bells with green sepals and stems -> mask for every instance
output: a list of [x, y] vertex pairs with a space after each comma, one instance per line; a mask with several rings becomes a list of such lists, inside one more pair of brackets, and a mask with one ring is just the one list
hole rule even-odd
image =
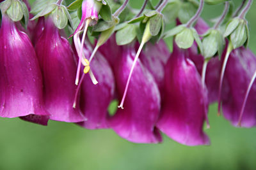
[[[143, 5], [138, 16], [120, 24], [127, 2], [112, 15], [104, 0], [76, 0], [67, 7], [49, 0], [29, 16], [27, 1], [3, 1], [0, 117], [109, 128], [134, 143], [160, 143], [163, 132], [189, 146], [209, 145], [203, 129], [210, 126], [211, 103], [218, 102], [219, 113], [234, 126], [256, 125], [256, 57], [246, 48], [244, 19], [251, 0], [231, 18], [225, 2], [212, 28], [199, 17], [201, 0], [195, 15], [177, 17], [177, 26], [165, 33], [162, 10], [168, 1], [140, 17]], [[70, 43], [63, 27], [74, 24], [78, 8], [81, 20]], [[174, 36], [172, 53], [162, 39], [168, 36]], [[120, 106], [109, 110], [116, 101]]]

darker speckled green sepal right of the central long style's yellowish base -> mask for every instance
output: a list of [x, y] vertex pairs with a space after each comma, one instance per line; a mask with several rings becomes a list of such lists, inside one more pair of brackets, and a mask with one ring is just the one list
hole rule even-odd
[[156, 36], [162, 26], [162, 21], [163, 21], [163, 15], [160, 13], [157, 15], [154, 15], [149, 19], [149, 29], [150, 29], [150, 34], [152, 36]]

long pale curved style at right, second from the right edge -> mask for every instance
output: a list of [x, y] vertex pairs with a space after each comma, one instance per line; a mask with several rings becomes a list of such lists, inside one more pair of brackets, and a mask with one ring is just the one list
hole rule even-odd
[[226, 55], [223, 60], [223, 65], [221, 67], [221, 74], [220, 74], [220, 84], [219, 84], [219, 92], [218, 92], [218, 115], [219, 116], [220, 116], [220, 108], [221, 108], [221, 89], [222, 89], [223, 77], [224, 77], [225, 69], [227, 66], [228, 57], [229, 57], [230, 53], [232, 52], [232, 50], [233, 50], [232, 43], [229, 42], [227, 52], [226, 52]]

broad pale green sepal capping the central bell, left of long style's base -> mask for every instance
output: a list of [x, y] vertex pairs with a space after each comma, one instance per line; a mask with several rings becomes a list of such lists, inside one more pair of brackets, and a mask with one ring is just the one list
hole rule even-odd
[[136, 38], [136, 29], [138, 27], [133, 24], [126, 25], [123, 29], [116, 32], [116, 43], [117, 45], [127, 45]]

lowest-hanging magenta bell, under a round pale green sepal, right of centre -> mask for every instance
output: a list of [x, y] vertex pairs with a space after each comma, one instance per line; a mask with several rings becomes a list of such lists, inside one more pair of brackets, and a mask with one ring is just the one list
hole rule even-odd
[[173, 43], [173, 53], [166, 64], [165, 96], [157, 127], [183, 145], [209, 145], [203, 132], [207, 97], [204, 85], [185, 50]]

